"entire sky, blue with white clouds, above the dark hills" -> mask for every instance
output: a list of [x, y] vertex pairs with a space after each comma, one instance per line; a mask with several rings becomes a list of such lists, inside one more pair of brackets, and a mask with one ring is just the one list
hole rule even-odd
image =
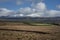
[[0, 0], [0, 16], [60, 16], [60, 0]]

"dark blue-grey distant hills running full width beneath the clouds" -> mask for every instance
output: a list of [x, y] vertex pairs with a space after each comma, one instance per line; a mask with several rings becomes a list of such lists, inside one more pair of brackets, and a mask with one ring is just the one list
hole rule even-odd
[[0, 17], [3, 21], [32, 21], [41, 23], [60, 23], [60, 17]]

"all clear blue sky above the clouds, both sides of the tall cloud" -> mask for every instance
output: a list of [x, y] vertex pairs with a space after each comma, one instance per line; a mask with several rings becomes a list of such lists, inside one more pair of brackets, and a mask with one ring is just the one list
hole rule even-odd
[[[37, 1], [37, 0], [35, 0]], [[43, 1], [48, 9], [57, 9], [56, 5], [60, 5], [60, 0], [44, 0]], [[9, 1], [1, 1], [0, 8], [8, 8], [12, 10], [17, 10], [20, 7], [27, 7], [30, 6], [32, 2], [27, 2], [23, 0], [23, 3], [17, 5], [17, 0], [9, 0]]]

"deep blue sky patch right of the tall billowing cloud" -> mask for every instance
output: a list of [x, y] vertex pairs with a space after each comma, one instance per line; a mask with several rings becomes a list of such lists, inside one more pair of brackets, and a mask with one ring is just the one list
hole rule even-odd
[[56, 6], [60, 5], [60, 0], [46, 0], [45, 3], [48, 9], [57, 9]]

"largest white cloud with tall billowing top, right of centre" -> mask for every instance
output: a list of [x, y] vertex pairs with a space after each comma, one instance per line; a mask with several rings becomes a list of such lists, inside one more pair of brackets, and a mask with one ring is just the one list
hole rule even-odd
[[43, 2], [40, 2], [34, 5], [33, 8], [20, 8], [19, 13], [23, 14], [24, 16], [41, 17], [44, 16], [45, 10], [45, 4]]

